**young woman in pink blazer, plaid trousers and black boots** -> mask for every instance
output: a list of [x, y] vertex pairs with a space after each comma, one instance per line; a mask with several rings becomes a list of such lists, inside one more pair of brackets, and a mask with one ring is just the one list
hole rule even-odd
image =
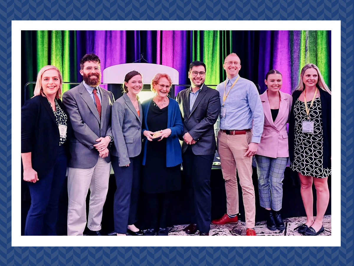
[[256, 164], [258, 174], [259, 203], [267, 211], [269, 230], [284, 230], [280, 216], [284, 171], [289, 159], [288, 133], [292, 97], [280, 91], [282, 75], [270, 70], [264, 80], [268, 89], [260, 96], [264, 111], [264, 128], [258, 144]]

